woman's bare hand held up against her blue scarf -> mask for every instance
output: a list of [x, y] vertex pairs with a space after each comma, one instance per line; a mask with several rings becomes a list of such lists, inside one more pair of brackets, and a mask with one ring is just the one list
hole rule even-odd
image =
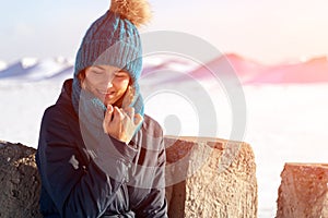
[[108, 105], [103, 129], [106, 134], [128, 144], [142, 120], [139, 113], [134, 114], [134, 108], [132, 107], [121, 109]]

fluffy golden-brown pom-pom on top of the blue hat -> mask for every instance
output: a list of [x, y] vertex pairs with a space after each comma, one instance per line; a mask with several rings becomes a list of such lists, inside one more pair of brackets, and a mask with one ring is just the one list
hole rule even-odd
[[129, 20], [137, 27], [151, 19], [150, 5], [145, 0], [112, 0], [109, 10]]

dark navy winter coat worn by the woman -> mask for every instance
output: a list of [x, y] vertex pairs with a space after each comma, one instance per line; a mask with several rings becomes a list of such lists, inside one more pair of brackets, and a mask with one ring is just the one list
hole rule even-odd
[[[108, 135], [118, 155], [110, 157], [104, 156], [102, 149], [90, 150], [72, 107], [71, 84], [71, 80], [65, 82], [59, 99], [45, 111], [42, 121], [36, 161], [42, 178], [43, 215], [167, 217], [161, 126], [144, 116], [131, 141], [133, 145]], [[106, 170], [108, 162], [110, 171]]]

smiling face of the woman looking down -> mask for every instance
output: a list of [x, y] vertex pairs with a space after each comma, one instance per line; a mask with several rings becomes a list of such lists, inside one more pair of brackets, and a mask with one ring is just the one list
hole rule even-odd
[[126, 71], [112, 65], [93, 65], [85, 69], [82, 87], [93, 93], [105, 106], [120, 106], [118, 100], [121, 100], [129, 83], [130, 75]]

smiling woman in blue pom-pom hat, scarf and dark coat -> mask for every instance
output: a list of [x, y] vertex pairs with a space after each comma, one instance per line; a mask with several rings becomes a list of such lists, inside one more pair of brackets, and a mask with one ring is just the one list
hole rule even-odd
[[72, 80], [42, 121], [44, 217], [167, 217], [161, 126], [143, 114], [137, 26], [145, 2], [113, 0], [86, 32]]

